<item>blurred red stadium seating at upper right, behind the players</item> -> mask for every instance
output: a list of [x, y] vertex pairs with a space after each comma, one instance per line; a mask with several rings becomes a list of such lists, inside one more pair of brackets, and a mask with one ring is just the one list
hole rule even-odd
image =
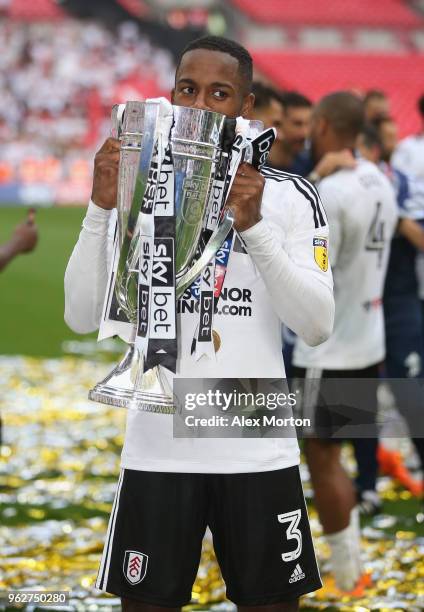
[[382, 89], [401, 136], [421, 128], [424, 9], [418, 3], [232, 0], [231, 6], [259, 73], [281, 89], [313, 100], [339, 89]]

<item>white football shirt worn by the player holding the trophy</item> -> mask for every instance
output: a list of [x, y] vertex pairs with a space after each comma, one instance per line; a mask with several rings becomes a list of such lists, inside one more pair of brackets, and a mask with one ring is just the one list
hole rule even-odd
[[[334, 300], [329, 266], [317, 263], [328, 226], [307, 181], [266, 169], [263, 219], [236, 238], [213, 328], [216, 359], [190, 354], [198, 323], [189, 294], [179, 302], [180, 377], [283, 378], [281, 322], [307, 342], [325, 340]], [[98, 328], [107, 282], [108, 225], [115, 213], [90, 203], [65, 275], [65, 320], [80, 333]], [[325, 248], [324, 248], [325, 247]], [[169, 378], [172, 374], [164, 370]], [[119, 410], [119, 408], [117, 408]], [[239, 473], [276, 470], [299, 462], [297, 439], [173, 438], [173, 417], [129, 410], [121, 465], [162, 472]]]

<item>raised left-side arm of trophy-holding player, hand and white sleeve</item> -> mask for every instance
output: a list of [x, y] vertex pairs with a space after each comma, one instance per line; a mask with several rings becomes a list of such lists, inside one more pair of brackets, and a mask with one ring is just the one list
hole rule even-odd
[[65, 321], [80, 334], [95, 331], [100, 324], [118, 165], [119, 142], [108, 138], [95, 157], [91, 201], [65, 272]]

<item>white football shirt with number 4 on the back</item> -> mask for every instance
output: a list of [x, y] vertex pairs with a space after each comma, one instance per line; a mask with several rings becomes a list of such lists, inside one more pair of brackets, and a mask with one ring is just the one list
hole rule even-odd
[[382, 296], [397, 220], [395, 194], [376, 165], [358, 160], [319, 184], [330, 226], [336, 315], [330, 338], [310, 347], [300, 338], [294, 364], [356, 370], [385, 355]]

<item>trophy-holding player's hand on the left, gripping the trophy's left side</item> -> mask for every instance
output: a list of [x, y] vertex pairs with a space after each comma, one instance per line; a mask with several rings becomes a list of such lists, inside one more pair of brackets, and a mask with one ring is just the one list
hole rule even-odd
[[93, 191], [91, 200], [100, 208], [111, 210], [116, 206], [118, 192], [120, 143], [108, 138], [94, 158]]

